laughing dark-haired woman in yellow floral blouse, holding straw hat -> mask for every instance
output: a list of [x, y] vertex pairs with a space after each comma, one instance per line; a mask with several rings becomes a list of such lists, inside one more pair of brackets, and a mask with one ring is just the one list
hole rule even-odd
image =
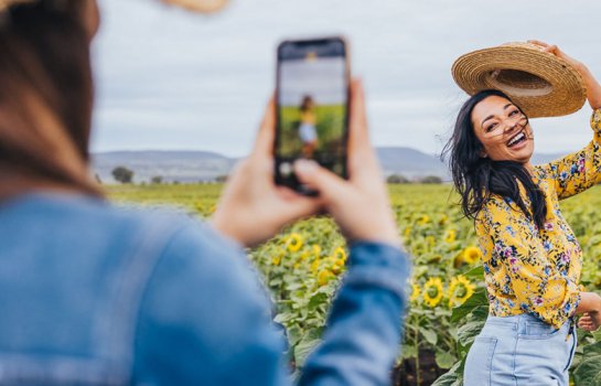
[[[597, 330], [601, 298], [579, 286], [582, 251], [558, 200], [601, 181], [601, 86], [583, 64], [535, 41], [466, 54], [453, 65], [453, 75], [473, 95], [459, 112], [446, 153], [463, 212], [475, 221], [490, 302], [468, 354], [465, 385], [568, 385], [576, 349], [572, 318], [583, 314], [579, 326]], [[538, 85], [520, 92], [528, 77]], [[579, 82], [569, 86], [564, 77]], [[486, 89], [504, 85], [506, 93]], [[557, 95], [579, 99], [580, 94], [593, 109], [592, 141], [534, 167], [528, 115], [569, 112], [566, 105], [573, 100], [561, 103]]]

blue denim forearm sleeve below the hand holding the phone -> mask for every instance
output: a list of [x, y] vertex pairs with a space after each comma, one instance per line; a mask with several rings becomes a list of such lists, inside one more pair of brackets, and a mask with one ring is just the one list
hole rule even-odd
[[357, 243], [300, 385], [389, 385], [398, 355], [410, 259], [398, 248]]

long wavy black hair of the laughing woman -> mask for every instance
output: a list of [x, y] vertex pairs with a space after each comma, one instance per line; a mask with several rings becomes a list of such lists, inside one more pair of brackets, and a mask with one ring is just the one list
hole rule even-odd
[[[493, 161], [481, 156], [484, 148], [475, 136], [472, 111], [480, 101], [493, 95], [512, 101], [507, 95], [495, 89], [482, 90], [470, 97], [459, 111], [442, 158], [448, 158], [455, 190], [461, 195], [461, 207], [468, 218], [475, 219], [490, 195], [497, 194], [509, 199], [541, 228], [547, 215], [545, 194], [526, 168], [519, 162]], [[522, 196], [519, 185], [526, 191], [529, 203]]]

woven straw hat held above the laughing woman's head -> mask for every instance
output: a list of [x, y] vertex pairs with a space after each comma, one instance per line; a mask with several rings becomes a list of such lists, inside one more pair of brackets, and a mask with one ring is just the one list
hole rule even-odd
[[498, 89], [530, 118], [568, 115], [579, 110], [587, 99], [578, 71], [532, 43], [506, 43], [470, 52], [453, 63], [451, 72], [465, 93]]

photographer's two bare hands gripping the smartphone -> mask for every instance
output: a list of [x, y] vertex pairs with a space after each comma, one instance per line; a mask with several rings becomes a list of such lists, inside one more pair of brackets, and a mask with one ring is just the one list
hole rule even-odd
[[270, 101], [250, 157], [232, 173], [212, 223], [244, 246], [257, 245], [282, 226], [325, 210], [352, 240], [400, 245], [386, 185], [371, 144], [359, 82], [351, 87], [348, 174], [345, 181], [315, 161], [298, 160], [303, 184], [320, 193], [307, 197], [273, 182], [275, 103]]

